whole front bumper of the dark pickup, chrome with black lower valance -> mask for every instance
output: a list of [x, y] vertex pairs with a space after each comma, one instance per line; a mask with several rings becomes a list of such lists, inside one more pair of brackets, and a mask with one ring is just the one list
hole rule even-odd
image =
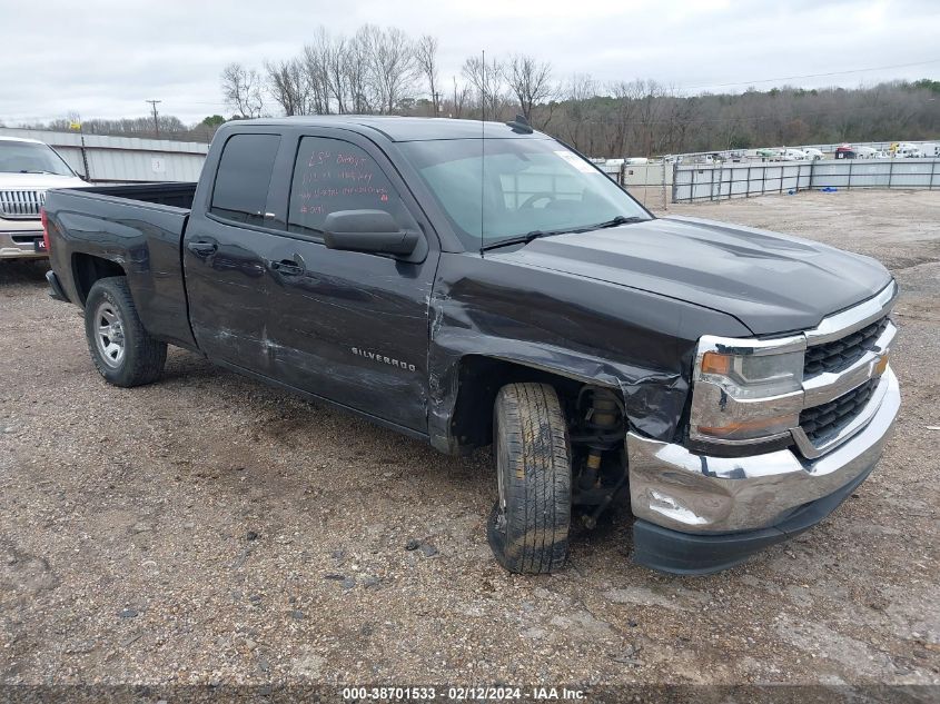
[[871, 419], [821, 457], [783, 449], [709, 457], [627, 434], [634, 561], [664, 572], [724, 569], [822, 520], [881, 456], [901, 403], [890, 367]]

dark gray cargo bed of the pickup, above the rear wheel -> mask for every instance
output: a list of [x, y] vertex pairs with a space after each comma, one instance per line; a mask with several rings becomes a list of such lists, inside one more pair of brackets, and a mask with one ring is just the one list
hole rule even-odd
[[49, 257], [68, 298], [83, 306], [93, 280], [127, 276], [150, 334], [194, 347], [180, 247], [195, 192], [196, 184], [50, 190]]

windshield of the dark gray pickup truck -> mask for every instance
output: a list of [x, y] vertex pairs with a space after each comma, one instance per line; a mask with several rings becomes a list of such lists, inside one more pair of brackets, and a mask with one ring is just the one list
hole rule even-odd
[[650, 219], [610, 178], [553, 139], [451, 139], [399, 147], [467, 249], [617, 217]]

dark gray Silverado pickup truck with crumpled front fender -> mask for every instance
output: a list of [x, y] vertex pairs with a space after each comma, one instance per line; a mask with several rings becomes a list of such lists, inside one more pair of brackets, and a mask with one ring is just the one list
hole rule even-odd
[[738, 564], [851, 494], [900, 404], [880, 264], [655, 218], [518, 120], [229, 123], [198, 184], [53, 190], [43, 221], [108, 381], [155, 381], [177, 345], [444, 453], [492, 445], [514, 572], [627, 500], [636, 562]]

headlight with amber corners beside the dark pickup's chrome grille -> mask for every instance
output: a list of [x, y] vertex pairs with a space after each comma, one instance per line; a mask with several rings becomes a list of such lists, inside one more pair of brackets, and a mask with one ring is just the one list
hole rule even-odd
[[805, 338], [742, 340], [706, 335], [692, 374], [693, 439], [746, 444], [799, 425]]

